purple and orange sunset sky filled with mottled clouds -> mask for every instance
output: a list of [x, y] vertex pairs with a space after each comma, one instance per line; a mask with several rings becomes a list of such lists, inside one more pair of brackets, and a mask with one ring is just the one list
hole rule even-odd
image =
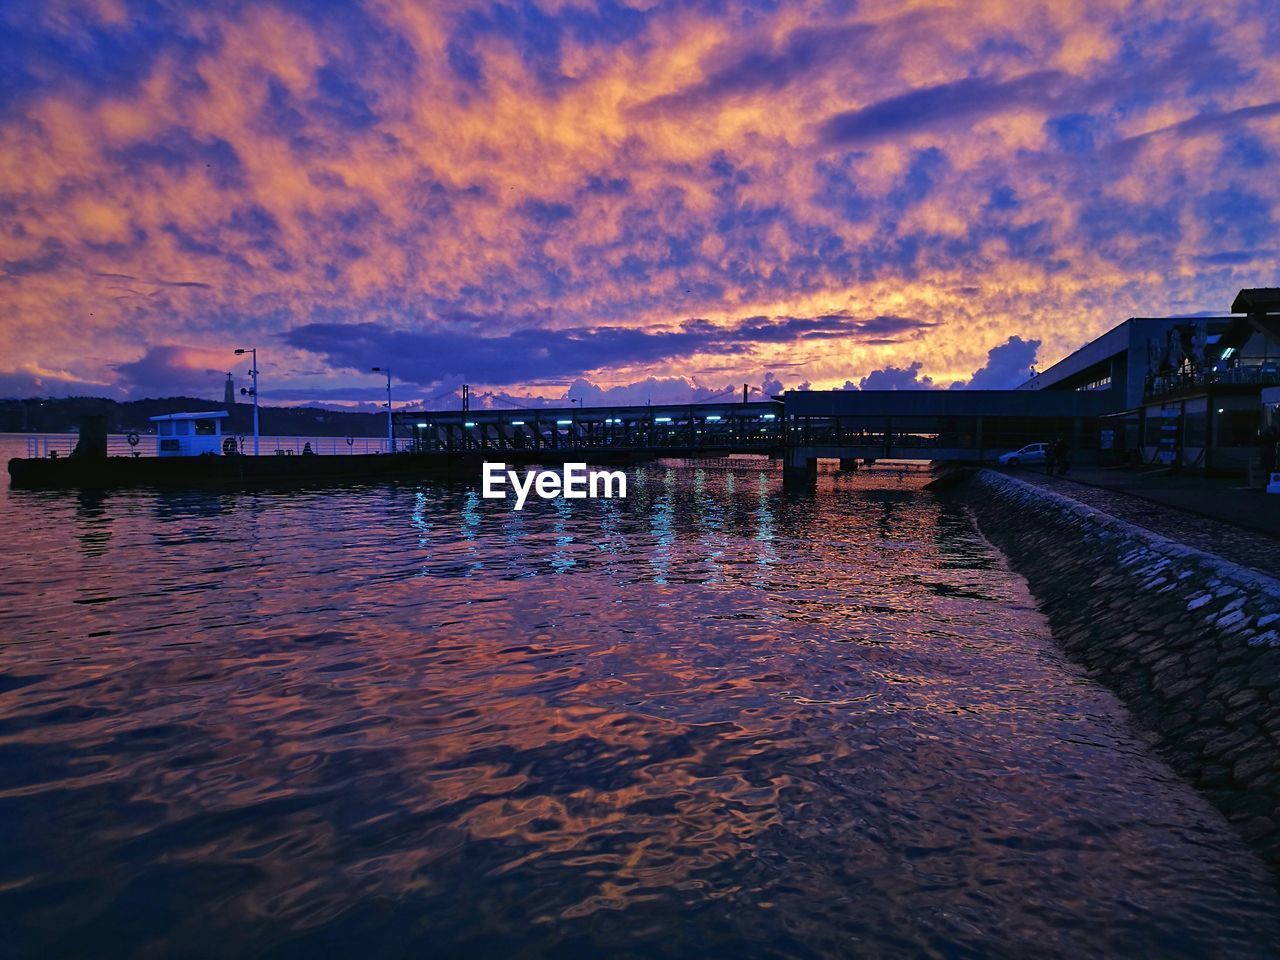
[[0, 396], [1002, 388], [1276, 285], [1272, 0], [0, 6]]

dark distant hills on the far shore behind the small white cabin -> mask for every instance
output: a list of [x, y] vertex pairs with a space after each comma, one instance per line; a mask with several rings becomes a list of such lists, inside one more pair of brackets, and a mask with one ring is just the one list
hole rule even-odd
[[[232, 416], [223, 433], [253, 433], [253, 406], [195, 397], [165, 397], [118, 402], [104, 397], [46, 397], [0, 401], [0, 433], [70, 433], [79, 419], [96, 413], [106, 417], [110, 433], [150, 433], [150, 417], [164, 413], [200, 413], [227, 410]], [[317, 407], [259, 407], [259, 429], [265, 436], [385, 436], [385, 413], [346, 413]]]

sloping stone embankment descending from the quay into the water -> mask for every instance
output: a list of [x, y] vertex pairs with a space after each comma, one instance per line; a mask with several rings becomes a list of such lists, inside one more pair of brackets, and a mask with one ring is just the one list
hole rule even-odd
[[1280, 870], [1280, 581], [989, 470], [954, 490], [1068, 654]]

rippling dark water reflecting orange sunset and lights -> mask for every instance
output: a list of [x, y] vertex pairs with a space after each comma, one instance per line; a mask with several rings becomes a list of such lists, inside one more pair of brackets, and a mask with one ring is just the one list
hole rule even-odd
[[18, 956], [1271, 956], [922, 479], [9, 492]]

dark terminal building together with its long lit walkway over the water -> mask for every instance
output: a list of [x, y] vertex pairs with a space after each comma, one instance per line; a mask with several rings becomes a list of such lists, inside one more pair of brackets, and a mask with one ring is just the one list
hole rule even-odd
[[1126, 320], [1016, 389], [787, 390], [764, 402], [588, 410], [465, 403], [394, 417], [420, 452], [762, 453], [805, 481], [819, 460], [846, 468], [884, 460], [989, 462], [1046, 445], [1082, 466], [1244, 472], [1261, 466], [1262, 431], [1280, 419], [1280, 396], [1263, 394], [1280, 388], [1277, 370], [1280, 289], [1268, 288], [1240, 291], [1230, 315]]

